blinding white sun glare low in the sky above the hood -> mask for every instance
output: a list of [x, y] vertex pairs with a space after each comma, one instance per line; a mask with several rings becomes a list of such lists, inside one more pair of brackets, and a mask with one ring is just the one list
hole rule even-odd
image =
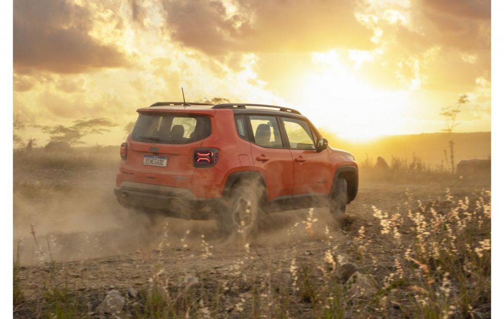
[[[352, 53], [355, 63], [369, 61], [365, 53]], [[294, 93], [306, 114], [319, 127], [326, 127], [352, 142], [367, 142], [404, 132], [401, 120], [407, 91], [372, 88], [345, 66], [336, 51], [312, 54], [313, 69], [298, 80]], [[302, 106], [301, 106], [302, 108]]]

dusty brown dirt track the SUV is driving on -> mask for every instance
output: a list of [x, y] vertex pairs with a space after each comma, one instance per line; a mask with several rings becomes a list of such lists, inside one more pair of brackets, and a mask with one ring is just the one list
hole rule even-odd
[[[110, 289], [143, 289], [160, 272], [180, 284], [232, 280], [235, 273], [258, 277], [266, 270], [282, 280], [292, 260], [319, 262], [328, 247], [353, 259], [362, 226], [373, 239], [368, 250], [375, 261], [359, 264], [358, 270], [383, 278], [401, 251], [378, 236], [381, 226], [372, 206], [394, 213], [408, 200], [406, 190], [429, 203], [448, 186], [455, 198], [489, 187], [361, 182], [356, 200], [347, 206], [350, 218], [343, 229], [327, 209], [290, 211], [270, 215], [258, 235], [243, 242], [220, 238], [213, 221], [161, 218], [150, 225], [146, 218], [132, 216], [113, 196], [113, 171], [15, 170], [14, 178], [14, 253], [26, 299], [35, 302], [50, 283], [80, 291], [90, 309]], [[410, 236], [408, 228], [400, 231], [404, 238]], [[300, 307], [297, 311], [303, 313]], [[19, 311], [16, 316], [27, 315], [26, 309]]]

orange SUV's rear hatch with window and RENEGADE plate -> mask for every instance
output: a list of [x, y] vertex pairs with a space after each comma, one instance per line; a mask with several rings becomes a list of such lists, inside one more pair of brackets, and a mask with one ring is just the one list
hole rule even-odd
[[140, 111], [121, 169], [128, 175], [125, 180], [188, 188], [195, 170], [194, 150], [210, 134], [208, 115]]

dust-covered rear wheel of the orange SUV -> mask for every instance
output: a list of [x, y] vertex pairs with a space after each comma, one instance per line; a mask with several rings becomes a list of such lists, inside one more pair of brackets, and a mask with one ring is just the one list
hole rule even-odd
[[243, 182], [231, 189], [216, 220], [217, 230], [223, 237], [237, 235], [249, 238], [256, 232], [261, 214], [260, 187], [256, 185]]

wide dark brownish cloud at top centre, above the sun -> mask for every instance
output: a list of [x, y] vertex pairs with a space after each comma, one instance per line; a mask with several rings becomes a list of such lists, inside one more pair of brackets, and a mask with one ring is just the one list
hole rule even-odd
[[349, 0], [240, 0], [233, 15], [221, 1], [162, 3], [172, 38], [211, 55], [372, 47], [372, 32], [356, 21]]

